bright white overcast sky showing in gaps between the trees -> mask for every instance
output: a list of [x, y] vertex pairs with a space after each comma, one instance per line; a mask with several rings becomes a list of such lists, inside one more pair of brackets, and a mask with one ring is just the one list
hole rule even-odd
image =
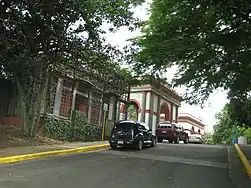
[[[147, 20], [149, 17], [147, 11], [148, 8], [149, 2], [135, 8], [135, 16], [140, 18], [141, 20]], [[123, 48], [125, 45], [129, 44], [129, 42], [127, 42], [128, 39], [139, 36], [140, 34], [141, 33], [139, 30], [131, 32], [126, 27], [122, 27], [115, 33], [107, 33], [105, 37], [110, 44]], [[168, 75], [167, 79], [169, 81], [172, 80], [176, 70], [176, 67], [172, 67], [166, 73], [166, 75]], [[185, 88], [181, 87], [176, 88], [175, 90], [182, 95], [185, 91]], [[206, 125], [206, 131], [212, 132], [213, 125], [216, 123], [214, 118], [215, 114], [220, 112], [227, 102], [226, 91], [215, 91], [211, 94], [208, 101], [205, 102], [205, 107], [203, 109], [201, 109], [199, 106], [191, 106], [186, 104], [185, 102], [182, 102], [181, 107], [179, 108], [179, 113], [190, 113], [191, 115], [202, 119], [202, 121]]]

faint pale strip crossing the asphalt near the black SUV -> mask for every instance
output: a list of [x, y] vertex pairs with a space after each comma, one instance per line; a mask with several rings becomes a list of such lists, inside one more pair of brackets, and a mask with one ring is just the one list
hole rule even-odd
[[150, 159], [156, 161], [165, 161], [171, 163], [182, 163], [182, 164], [190, 164], [190, 165], [198, 165], [198, 166], [207, 166], [207, 167], [214, 167], [214, 168], [228, 168], [227, 163], [219, 163], [219, 162], [212, 162], [212, 161], [203, 161], [203, 160], [195, 160], [195, 159], [186, 159], [181, 157], [173, 157], [173, 156], [161, 156], [161, 155], [151, 155], [151, 154], [139, 154], [139, 153], [132, 153], [132, 152], [120, 152], [120, 151], [101, 151], [101, 153], [107, 154], [114, 154], [119, 156], [126, 156], [126, 157], [133, 157], [133, 158], [141, 158], [141, 159]]

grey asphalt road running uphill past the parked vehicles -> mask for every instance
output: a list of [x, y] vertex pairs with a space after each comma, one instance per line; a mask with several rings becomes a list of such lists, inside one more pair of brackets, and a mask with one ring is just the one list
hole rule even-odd
[[158, 144], [0, 166], [0, 188], [234, 188], [223, 146]]

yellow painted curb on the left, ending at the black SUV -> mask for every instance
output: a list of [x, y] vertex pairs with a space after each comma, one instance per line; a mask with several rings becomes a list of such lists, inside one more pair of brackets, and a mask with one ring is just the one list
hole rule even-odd
[[71, 153], [80, 153], [80, 152], [87, 152], [87, 151], [94, 151], [94, 150], [108, 149], [108, 148], [110, 148], [109, 144], [101, 144], [101, 145], [86, 146], [86, 147], [73, 148], [73, 149], [54, 150], [54, 151], [39, 152], [39, 153], [34, 153], [34, 154], [16, 155], [16, 156], [0, 158], [0, 164], [14, 163], [14, 162], [31, 160], [31, 159], [53, 156], [53, 155], [66, 155], [66, 154], [71, 154]]

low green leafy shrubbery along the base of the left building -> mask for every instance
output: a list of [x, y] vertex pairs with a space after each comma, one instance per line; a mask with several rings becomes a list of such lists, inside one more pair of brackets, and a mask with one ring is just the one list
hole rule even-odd
[[46, 136], [62, 141], [96, 141], [101, 138], [101, 128], [87, 123], [86, 113], [72, 112], [71, 120], [48, 116], [45, 119]]

